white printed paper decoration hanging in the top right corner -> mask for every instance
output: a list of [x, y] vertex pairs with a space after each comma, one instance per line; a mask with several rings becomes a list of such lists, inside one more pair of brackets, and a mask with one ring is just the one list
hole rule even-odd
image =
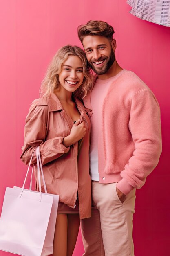
[[127, 0], [129, 13], [150, 22], [170, 27], [170, 0]]

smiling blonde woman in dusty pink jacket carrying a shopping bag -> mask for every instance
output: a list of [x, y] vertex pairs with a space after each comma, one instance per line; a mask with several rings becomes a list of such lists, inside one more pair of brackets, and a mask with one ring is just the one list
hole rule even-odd
[[[85, 97], [91, 86], [83, 50], [64, 46], [49, 65], [41, 87], [43, 96], [33, 101], [26, 117], [21, 159], [29, 164], [33, 150], [40, 146], [47, 192], [59, 195], [54, 256], [73, 254], [80, 219], [91, 216], [90, 121], [77, 98]], [[38, 190], [36, 170], [35, 184]]]

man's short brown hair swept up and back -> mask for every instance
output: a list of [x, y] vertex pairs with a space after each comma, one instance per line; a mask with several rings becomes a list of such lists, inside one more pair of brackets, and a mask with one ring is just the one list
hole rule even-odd
[[113, 33], [113, 27], [102, 20], [89, 20], [87, 24], [78, 26], [78, 37], [81, 42], [85, 36], [105, 36], [112, 41]]

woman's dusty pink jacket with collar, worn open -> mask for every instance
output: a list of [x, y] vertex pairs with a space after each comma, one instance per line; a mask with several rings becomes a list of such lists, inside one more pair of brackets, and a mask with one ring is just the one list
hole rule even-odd
[[[25, 164], [29, 164], [34, 148], [40, 146], [48, 193], [59, 195], [60, 202], [74, 207], [78, 192], [80, 218], [83, 219], [91, 216], [91, 178], [88, 157], [90, 121], [82, 102], [76, 97], [75, 102], [79, 112], [83, 112], [86, 125], [86, 135], [79, 155], [78, 142], [68, 148], [62, 144], [63, 138], [70, 134], [74, 123], [53, 93], [33, 101], [30, 107], [26, 117], [21, 159]], [[35, 162], [34, 153], [32, 164]]]

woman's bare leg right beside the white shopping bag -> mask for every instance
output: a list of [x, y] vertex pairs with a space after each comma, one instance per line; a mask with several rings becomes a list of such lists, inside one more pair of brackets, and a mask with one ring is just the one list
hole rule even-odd
[[67, 214], [57, 214], [53, 256], [67, 256]]

